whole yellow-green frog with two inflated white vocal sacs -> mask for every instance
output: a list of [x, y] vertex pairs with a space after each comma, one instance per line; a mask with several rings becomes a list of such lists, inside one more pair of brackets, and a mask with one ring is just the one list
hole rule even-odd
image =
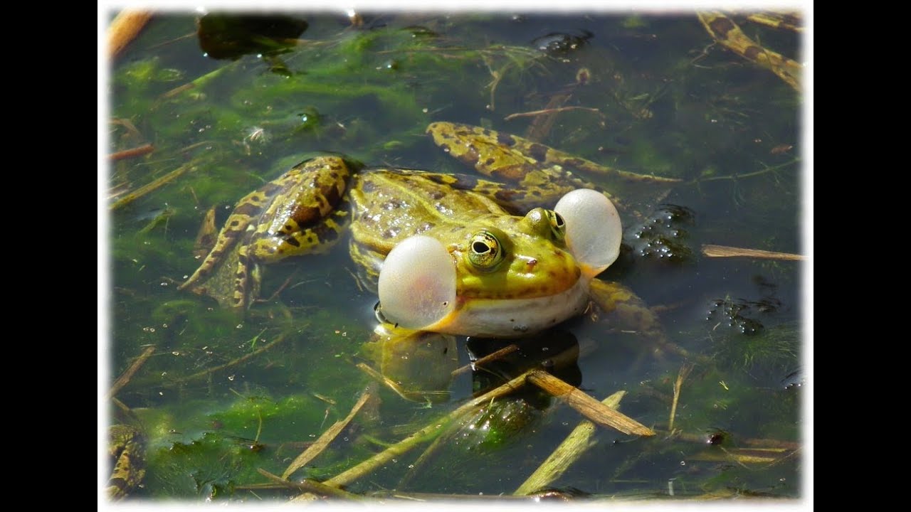
[[[637, 303], [595, 278], [618, 257], [620, 212], [638, 212], [619, 193], [656, 196], [675, 179], [486, 128], [435, 122], [427, 133], [491, 179], [353, 169], [331, 156], [302, 162], [237, 203], [180, 288], [247, 308], [262, 265], [327, 251], [350, 230], [351, 257], [377, 284], [377, 316], [397, 327], [515, 337], [580, 314], [590, 299], [609, 310]], [[614, 193], [579, 172], [599, 175]]]

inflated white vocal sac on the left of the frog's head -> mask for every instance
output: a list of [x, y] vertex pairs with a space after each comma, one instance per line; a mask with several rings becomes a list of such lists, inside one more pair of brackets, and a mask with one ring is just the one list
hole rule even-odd
[[384, 320], [421, 330], [455, 310], [455, 262], [440, 241], [406, 238], [386, 256], [377, 283]]

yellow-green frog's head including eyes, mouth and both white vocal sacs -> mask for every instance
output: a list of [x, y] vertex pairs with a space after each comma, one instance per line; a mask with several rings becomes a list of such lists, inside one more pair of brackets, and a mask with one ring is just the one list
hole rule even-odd
[[554, 210], [427, 231], [386, 256], [382, 313], [420, 331], [535, 333], [582, 312], [589, 282], [617, 259], [621, 236], [614, 205], [588, 189], [569, 192]]

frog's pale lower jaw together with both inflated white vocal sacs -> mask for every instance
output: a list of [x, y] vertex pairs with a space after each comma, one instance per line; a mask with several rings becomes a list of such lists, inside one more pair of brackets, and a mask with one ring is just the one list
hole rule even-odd
[[619, 254], [619, 216], [603, 194], [586, 189], [569, 192], [554, 210], [566, 220], [568, 249], [582, 271], [567, 290], [528, 299], [460, 300], [449, 251], [442, 242], [417, 235], [395, 246], [383, 263], [378, 288], [385, 319], [435, 333], [522, 336], [582, 312], [589, 283]]

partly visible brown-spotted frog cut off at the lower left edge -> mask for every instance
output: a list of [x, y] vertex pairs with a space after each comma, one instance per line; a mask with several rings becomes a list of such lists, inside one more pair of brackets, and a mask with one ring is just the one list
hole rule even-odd
[[133, 425], [118, 424], [108, 427], [107, 437], [107, 455], [111, 460], [107, 498], [118, 501], [128, 497], [146, 476], [145, 436]]

